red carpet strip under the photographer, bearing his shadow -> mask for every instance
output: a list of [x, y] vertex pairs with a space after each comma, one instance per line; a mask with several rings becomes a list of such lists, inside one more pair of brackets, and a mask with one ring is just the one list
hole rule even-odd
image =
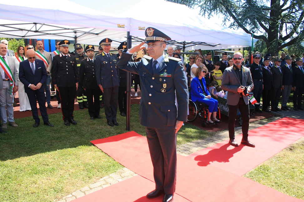
[[281, 118], [249, 131], [248, 139], [255, 143], [255, 148], [240, 144], [242, 135], [239, 135], [236, 136], [239, 147], [229, 145], [226, 140], [189, 157], [198, 161], [199, 166], [212, 165], [242, 176], [303, 136], [304, 120]]

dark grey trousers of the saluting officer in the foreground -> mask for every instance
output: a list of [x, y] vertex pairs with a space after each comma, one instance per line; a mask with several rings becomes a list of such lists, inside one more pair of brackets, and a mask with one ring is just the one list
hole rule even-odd
[[173, 194], [176, 185], [176, 133], [146, 127], [150, 156], [153, 164], [155, 189]]

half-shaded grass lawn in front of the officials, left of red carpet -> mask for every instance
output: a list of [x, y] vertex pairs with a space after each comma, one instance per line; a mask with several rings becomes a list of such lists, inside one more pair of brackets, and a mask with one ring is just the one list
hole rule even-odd
[[[139, 124], [139, 105], [131, 106], [131, 130], [145, 136]], [[89, 120], [86, 110], [74, 112], [77, 125], [63, 125], [62, 114], [49, 115], [55, 127], [34, 128], [32, 117], [18, 118], [18, 127], [0, 134], [0, 201], [54, 201], [121, 168], [91, 140], [127, 132], [126, 118], [117, 116], [119, 126], [103, 119]], [[40, 117], [41, 118], [41, 117]], [[210, 132], [185, 124], [178, 145], [210, 136]]]

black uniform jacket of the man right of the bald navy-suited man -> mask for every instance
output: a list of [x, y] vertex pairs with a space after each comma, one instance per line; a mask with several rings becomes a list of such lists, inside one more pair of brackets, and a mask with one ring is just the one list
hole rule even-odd
[[61, 53], [53, 57], [52, 82], [58, 87], [76, 87], [79, 75], [74, 55], [68, 54], [67, 59]]

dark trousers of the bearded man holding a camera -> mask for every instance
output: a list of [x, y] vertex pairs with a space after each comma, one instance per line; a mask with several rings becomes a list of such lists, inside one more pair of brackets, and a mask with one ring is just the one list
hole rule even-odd
[[249, 128], [249, 105], [245, 103], [244, 99], [241, 97], [237, 105], [229, 105], [229, 118], [228, 118], [228, 131], [229, 138], [234, 139], [234, 127], [236, 123], [236, 114], [237, 109], [240, 110], [242, 117], [242, 133], [243, 139], [247, 140], [248, 138], [248, 128]]

